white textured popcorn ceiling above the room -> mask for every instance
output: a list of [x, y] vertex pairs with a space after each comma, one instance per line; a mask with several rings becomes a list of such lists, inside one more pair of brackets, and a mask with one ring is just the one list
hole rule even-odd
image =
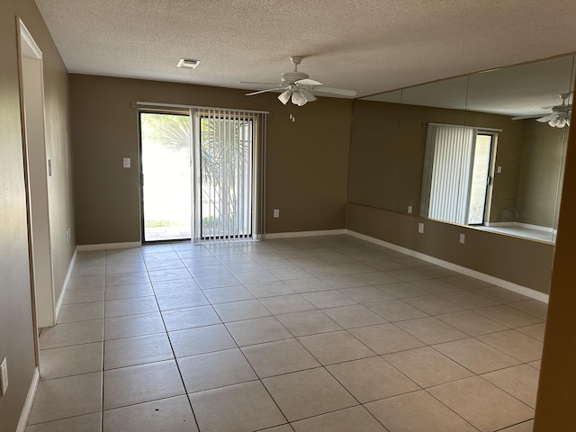
[[[574, 0], [36, 0], [70, 73], [358, 96], [576, 50]], [[202, 62], [175, 67], [179, 58]], [[257, 97], [257, 96], [254, 96]]]

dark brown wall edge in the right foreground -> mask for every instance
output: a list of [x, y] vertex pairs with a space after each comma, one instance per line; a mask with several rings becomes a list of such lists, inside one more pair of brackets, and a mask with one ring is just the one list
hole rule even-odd
[[[572, 119], [573, 121], [573, 119]], [[573, 124], [573, 123], [572, 123]], [[535, 432], [570, 432], [576, 412], [576, 133], [568, 140], [558, 237], [554, 253]]]

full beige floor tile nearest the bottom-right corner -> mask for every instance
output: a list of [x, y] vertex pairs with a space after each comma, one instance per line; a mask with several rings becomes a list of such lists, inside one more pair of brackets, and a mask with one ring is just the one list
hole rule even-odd
[[532, 419], [534, 410], [479, 376], [428, 389], [438, 400], [481, 431]]

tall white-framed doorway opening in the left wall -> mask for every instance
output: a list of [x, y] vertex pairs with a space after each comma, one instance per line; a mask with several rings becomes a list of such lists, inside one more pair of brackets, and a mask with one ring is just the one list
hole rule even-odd
[[40, 329], [56, 324], [48, 199], [51, 163], [46, 157], [42, 52], [20, 19], [18, 30], [32, 301]]

